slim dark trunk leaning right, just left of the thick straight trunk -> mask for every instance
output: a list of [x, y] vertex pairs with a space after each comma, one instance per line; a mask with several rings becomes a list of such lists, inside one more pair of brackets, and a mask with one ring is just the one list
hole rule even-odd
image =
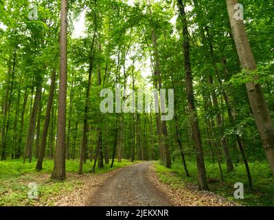
[[[56, 84], [56, 69], [52, 71], [52, 82], [49, 89], [49, 98], [47, 100], [47, 110], [45, 114], [45, 121], [43, 126], [41, 146], [38, 153], [38, 160], [36, 164], [36, 170], [42, 170], [43, 168], [43, 159], [45, 157], [45, 147], [47, 145], [47, 131], [49, 130], [50, 114], [52, 112], [52, 103], [54, 100], [54, 91]], [[52, 118], [54, 120], [54, 118]]]

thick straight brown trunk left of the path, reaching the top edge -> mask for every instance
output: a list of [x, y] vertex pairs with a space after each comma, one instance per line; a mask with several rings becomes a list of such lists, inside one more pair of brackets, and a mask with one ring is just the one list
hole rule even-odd
[[58, 95], [57, 140], [52, 179], [66, 178], [66, 99], [67, 99], [67, 0], [61, 0], [60, 85]]

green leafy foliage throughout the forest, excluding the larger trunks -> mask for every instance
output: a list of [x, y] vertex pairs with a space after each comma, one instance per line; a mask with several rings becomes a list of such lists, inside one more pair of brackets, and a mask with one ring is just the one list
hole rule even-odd
[[[34, 172], [36, 159], [32, 164], [23, 164], [23, 159], [17, 158], [24, 157], [27, 140], [34, 144], [32, 155], [25, 156], [37, 157], [47, 110], [50, 76], [53, 70], [59, 75], [60, 1], [43, 0], [34, 3], [38, 5], [38, 19], [29, 20], [30, 1], [0, 0], [0, 157], [3, 155], [5, 157], [2, 159], [8, 159], [0, 162], [0, 179], [14, 179], [11, 189], [16, 191], [5, 197], [7, 204], [20, 205], [19, 201], [24, 201], [21, 205], [32, 204], [25, 199], [25, 186], [16, 185], [16, 178], [38, 175]], [[247, 203], [271, 204], [271, 187], [266, 186], [272, 186], [269, 170], [266, 167], [263, 169], [266, 166], [266, 155], [244, 83], [252, 81], [261, 85], [274, 118], [273, 2], [241, 1], [244, 4], [244, 24], [258, 63], [258, 69], [254, 72], [241, 70], [225, 1], [185, 0], [183, 3], [187, 11], [190, 37], [192, 83], [198, 115], [196, 120], [201, 130], [209, 178], [219, 178], [217, 162], [212, 164], [209, 158], [213, 153], [215, 160], [216, 157], [221, 161], [224, 159], [220, 147], [222, 139], [227, 141], [231, 159], [236, 165], [235, 171], [225, 175], [222, 185], [218, 185], [219, 181], [216, 186], [211, 184], [210, 187], [221, 195], [231, 197], [233, 181], [237, 178], [246, 179], [241, 164], [243, 158], [237, 145], [237, 137], [240, 137], [255, 186], [254, 191], [247, 193]], [[109, 88], [115, 94], [116, 83], [122, 85], [122, 91], [124, 87], [133, 89], [133, 85], [135, 91], [160, 86], [174, 89], [175, 104], [175, 117], [166, 122], [168, 131], [163, 142], [170, 148], [174, 161], [181, 158], [181, 151], [185, 153], [187, 167], [192, 175], [190, 180], [196, 183], [197, 171], [192, 162], [196, 151], [183, 65], [185, 39], [176, 1], [150, 1], [149, 4], [148, 1], [134, 1], [129, 5], [122, 0], [73, 0], [69, 1], [68, 12], [66, 156], [74, 160], [67, 159], [67, 173], [78, 171], [85, 119], [88, 131], [84, 173], [89, 172], [93, 166], [89, 159], [94, 159], [97, 152], [98, 129], [102, 129], [102, 153], [106, 161], [111, 159], [113, 153], [117, 159], [118, 147], [121, 147], [119, 151], [124, 159], [131, 159], [133, 146], [135, 159], [159, 159], [162, 136], [157, 132], [157, 115], [103, 114], [100, 112], [102, 98], [99, 94], [103, 88]], [[84, 36], [75, 37], [73, 26], [80, 15], [85, 16], [86, 30]], [[91, 85], [87, 94], [89, 73]], [[156, 85], [157, 81], [161, 85]], [[58, 85], [57, 77], [45, 149], [47, 158], [54, 158]], [[38, 87], [42, 87], [43, 94], [34, 124], [35, 131], [33, 137], [27, 137], [28, 128], [33, 125], [30, 119]], [[216, 96], [217, 103], [213, 103], [213, 96]], [[216, 123], [218, 116], [221, 125]], [[182, 149], [178, 147], [178, 140], [181, 141]], [[14, 158], [16, 160], [10, 160]], [[126, 164], [128, 162], [117, 163], [115, 160], [114, 167]], [[45, 159], [41, 173], [50, 173], [52, 168], [52, 161]], [[96, 173], [104, 173], [109, 169], [110, 165], [105, 164], [104, 168], [96, 169]], [[172, 169], [183, 175], [182, 165], [175, 163]], [[222, 170], [225, 170], [225, 166]], [[168, 170], [162, 172], [161, 178], [176, 184], [176, 175], [165, 177]], [[67, 184], [67, 188], [71, 187], [70, 183], [64, 184]], [[47, 197], [50, 193], [58, 192], [62, 184], [54, 183], [52, 187], [45, 184], [43, 187], [42, 191], [45, 191]], [[23, 192], [19, 192], [20, 188]], [[260, 199], [260, 193], [269, 195]]]

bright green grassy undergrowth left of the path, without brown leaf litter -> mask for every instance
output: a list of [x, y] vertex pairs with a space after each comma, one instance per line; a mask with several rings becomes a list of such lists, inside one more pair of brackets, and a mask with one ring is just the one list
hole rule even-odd
[[[87, 161], [87, 164], [83, 165], [83, 172], [89, 173], [88, 175], [99, 175], [130, 164], [133, 163], [127, 160], [122, 160], [121, 163], [115, 161], [113, 168], [110, 167], [110, 164], [105, 164], [104, 168], [96, 168], [95, 173], [89, 173], [89, 170], [93, 167], [93, 162]], [[69, 192], [82, 184], [77, 178], [67, 178], [65, 181], [50, 179], [50, 173], [54, 167], [52, 160], [45, 159], [41, 172], [37, 172], [35, 166], [36, 159], [32, 163], [25, 164], [23, 164], [22, 159], [0, 162], [0, 206], [36, 206], [37, 202], [52, 205], [54, 204], [54, 201], [51, 201], [52, 198], [64, 192]], [[77, 160], [67, 160], [66, 172], [68, 176], [76, 174], [78, 166], [79, 162]], [[30, 190], [28, 184], [31, 182], [38, 184], [38, 201], [28, 199], [27, 192]]]

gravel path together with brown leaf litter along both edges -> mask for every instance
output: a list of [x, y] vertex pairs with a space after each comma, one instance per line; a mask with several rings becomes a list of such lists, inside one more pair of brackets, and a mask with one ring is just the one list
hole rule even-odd
[[76, 180], [80, 184], [73, 190], [53, 195], [36, 206], [239, 206], [213, 192], [199, 191], [194, 184], [163, 183], [153, 162], [141, 162], [100, 175], [67, 176], [67, 181], [77, 183]]

